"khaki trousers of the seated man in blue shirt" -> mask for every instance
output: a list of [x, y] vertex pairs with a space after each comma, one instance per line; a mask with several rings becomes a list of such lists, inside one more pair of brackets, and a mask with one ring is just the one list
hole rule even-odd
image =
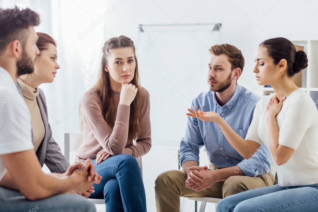
[[[210, 169], [218, 169], [211, 164]], [[274, 176], [269, 172], [256, 177], [231, 176], [225, 181], [215, 182], [211, 187], [195, 191], [185, 187], [187, 175], [183, 170], [162, 172], [156, 179], [156, 208], [157, 212], [179, 212], [179, 197], [215, 197], [225, 198], [243, 191], [273, 185]]]

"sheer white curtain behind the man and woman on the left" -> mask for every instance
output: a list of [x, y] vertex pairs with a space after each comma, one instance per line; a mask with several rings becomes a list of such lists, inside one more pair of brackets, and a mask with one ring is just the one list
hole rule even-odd
[[101, 48], [105, 42], [105, 1], [0, 0], [3, 8], [14, 5], [35, 10], [41, 17], [36, 31], [57, 42], [58, 70], [53, 83], [42, 84], [53, 137], [64, 149], [64, 133], [79, 132], [81, 96], [97, 79]]

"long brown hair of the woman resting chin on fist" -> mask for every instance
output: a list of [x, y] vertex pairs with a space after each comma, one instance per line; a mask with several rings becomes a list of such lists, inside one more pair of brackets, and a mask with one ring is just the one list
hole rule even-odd
[[[140, 107], [141, 107], [141, 86], [139, 80], [139, 73], [138, 73], [138, 63], [137, 57], [135, 53], [135, 45], [134, 42], [126, 37], [126, 36], [119, 36], [119, 37], [112, 37], [108, 39], [102, 48], [103, 57], [100, 64], [100, 70], [98, 74], [98, 79], [96, 84], [89, 89], [88, 91], [95, 89], [100, 97], [100, 105], [102, 114], [104, 116], [105, 121], [107, 124], [113, 129], [116, 119], [116, 111], [117, 107], [115, 106], [113, 91], [110, 87], [110, 80], [109, 80], [109, 72], [105, 71], [105, 67], [107, 66], [107, 56], [109, 55], [109, 50], [112, 49], [119, 49], [119, 48], [132, 48], [134, 50], [135, 56], [135, 75], [134, 78], [130, 83], [138, 88], [138, 92], [134, 101], [130, 104], [130, 114], [129, 114], [129, 125], [128, 125], [128, 139], [136, 139], [141, 132], [140, 125], [139, 125], [139, 114], [140, 114]], [[83, 130], [83, 121], [81, 119], [81, 109], [79, 106], [79, 116], [81, 120], [81, 130]]]

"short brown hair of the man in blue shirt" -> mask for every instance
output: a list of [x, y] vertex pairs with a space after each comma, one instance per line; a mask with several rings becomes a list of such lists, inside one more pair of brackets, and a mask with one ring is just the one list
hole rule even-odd
[[242, 74], [244, 68], [244, 57], [241, 50], [231, 44], [225, 43], [211, 46], [209, 51], [212, 55], [227, 55], [229, 57], [229, 62], [231, 63], [231, 70], [240, 68]]

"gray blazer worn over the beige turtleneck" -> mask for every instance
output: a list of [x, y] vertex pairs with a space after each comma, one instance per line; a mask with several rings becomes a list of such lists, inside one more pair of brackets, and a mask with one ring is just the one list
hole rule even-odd
[[[18, 90], [20, 91], [20, 94], [22, 95], [22, 92], [18, 84], [16, 85], [18, 87]], [[39, 95], [37, 96], [37, 102], [44, 123], [45, 135], [36, 154], [42, 167], [45, 164], [52, 173], [62, 173], [66, 171], [70, 163], [66, 160], [66, 157], [62, 154], [59, 145], [55, 142], [54, 138], [52, 137], [52, 129], [49, 124], [45, 95], [42, 89], [38, 89]]]

